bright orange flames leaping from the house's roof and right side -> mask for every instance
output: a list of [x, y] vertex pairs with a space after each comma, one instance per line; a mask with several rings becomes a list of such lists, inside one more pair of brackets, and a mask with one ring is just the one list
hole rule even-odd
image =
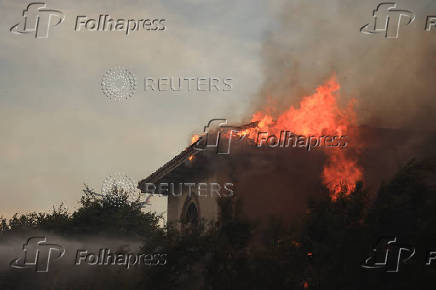
[[[256, 132], [263, 131], [276, 136], [280, 131], [289, 130], [304, 136], [347, 136], [351, 129], [357, 127], [353, 99], [346, 108], [341, 109], [337, 103], [337, 92], [340, 89], [336, 77], [331, 77], [319, 86], [315, 93], [304, 97], [298, 108], [289, 107], [274, 121], [271, 108], [253, 114], [251, 121], [259, 121], [257, 128], [247, 129], [240, 135], [256, 138]], [[353, 144], [356, 145], [356, 144]], [[363, 170], [357, 164], [357, 156], [353, 156], [344, 148], [325, 148], [327, 162], [323, 168], [323, 184], [328, 188], [331, 199], [335, 201], [341, 194], [347, 196], [362, 180]]]

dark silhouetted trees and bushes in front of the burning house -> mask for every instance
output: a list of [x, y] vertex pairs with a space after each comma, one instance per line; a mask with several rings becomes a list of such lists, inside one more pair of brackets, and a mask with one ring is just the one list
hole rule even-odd
[[[140, 201], [130, 201], [124, 192], [102, 196], [85, 186], [81, 206], [72, 214], [60, 205], [49, 214], [1, 218], [0, 237], [35, 230], [75, 238], [121, 235], [141, 239], [143, 252], [167, 254], [165, 266], [94, 271], [79, 279], [80, 289], [430, 289], [434, 269], [424, 269], [424, 256], [435, 250], [434, 180], [434, 162], [412, 160], [376, 195], [362, 184], [335, 202], [324, 192], [291, 224], [280, 217], [255, 224], [240, 214], [242, 201], [234, 197], [219, 202], [215, 223], [184, 225], [181, 231], [161, 229], [159, 217], [142, 212]], [[421, 250], [415, 263], [402, 265], [407, 275], [360, 267], [386, 235]], [[16, 283], [11, 281], [27, 281], [14, 275], [8, 274], [3, 281], [10, 283], [0, 288], [29, 287], [24, 282], [11, 286]], [[41, 289], [76, 289], [71, 279], [40, 281]]]

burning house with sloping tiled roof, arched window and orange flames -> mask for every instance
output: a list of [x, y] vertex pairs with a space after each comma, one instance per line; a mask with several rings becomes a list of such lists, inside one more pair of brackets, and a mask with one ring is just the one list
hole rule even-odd
[[[404, 142], [410, 132], [358, 126], [353, 103], [340, 108], [338, 91], [332, 78], [298, 108], [291, 106], [274, 118], [266, 108], [253, 114], [249, 125], [195, 136], [138, 188], [168, 196], [167, 221], [173, 224], [217, 220], [217, 200], [233, 196], [251, 219], [291, 220], [304, 214], [310, 199], [336, 201], [360, 182], [378, 187], [425, 151], [416, 149], [423, 144], [417, 139]], [[217, 154], [223, 151], [218, 143], [213, 150], [198, 150], [209, 139], [231, 144], [231, 152]]]

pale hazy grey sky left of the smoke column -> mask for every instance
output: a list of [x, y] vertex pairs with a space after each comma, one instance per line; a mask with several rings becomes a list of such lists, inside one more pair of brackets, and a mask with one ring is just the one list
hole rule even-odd
[[[65, 21], [47, 39], [16, 35], [28, 1], [0, 0], [0, 215], [78, 206], [83, 183], [140, 180], [183, 150], [211, 118], [240, 118], [262, 76], [266, 1], [48, 1]], [[77, 15], [165, 18], [162, 32], [76, 32]], [[133, 98], [114, 102], [102, 75], [136, 74]], [[145, 76], [231, 77], [232, 92], [147, 93]], [[162, 202], [152, 200], [162, 210]]]

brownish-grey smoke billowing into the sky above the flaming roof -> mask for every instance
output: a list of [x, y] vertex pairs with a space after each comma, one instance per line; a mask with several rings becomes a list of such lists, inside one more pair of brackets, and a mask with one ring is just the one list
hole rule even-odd
[[275, 29], [265, 36], [264, 83], [255, 111], [273, 104], [280, 113], [336, 74], [341, 101], [357, 100], [360, 124], [433, 129], [436, 116], [436, 35], [425, 31], [436, 2], [396, 1], [416, 19], [401, 22], [398, 39], [365, 35], [378, 1], [297, 0], [279, 3]]

